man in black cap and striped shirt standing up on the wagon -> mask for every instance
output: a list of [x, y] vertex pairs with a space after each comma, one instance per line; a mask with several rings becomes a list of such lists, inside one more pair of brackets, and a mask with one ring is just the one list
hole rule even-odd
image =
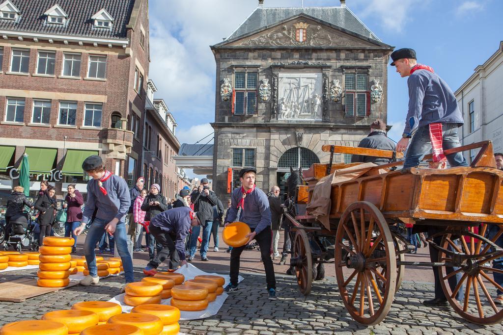
[[[407, 79], [409, 103], [402, 139], [396, 151], [405, 151], [402, 172], [419, 165], [423, 157], [434, 150], [434, 161], [447, 160], [451, 166], [468, 166], [462, 153], [444, 155], [443, 149], [459, 147], [458, 128], [463, 125], [463, 115], [451, 88], [430, 66], [417, 64], [415, 51], [404, 48], [391, 53], [400, 76]], [[412, 137], [413, 135], [413, 137]], [[442, 143], [440, 145], [440, 143]]]

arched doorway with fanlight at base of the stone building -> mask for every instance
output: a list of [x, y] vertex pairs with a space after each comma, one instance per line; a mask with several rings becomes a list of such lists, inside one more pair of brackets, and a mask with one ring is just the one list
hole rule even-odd
[[319, 163], [319, 158], [307, 148], [297, 147], [285, 151], [278, 160], [278, 171], [276, 173], [277, 185], [281, 189], [281, 193], [285, 193], [285, 183], [290, 176], [290, 167], [294, 170], [299, 168], [305, 170], [314, 163]]

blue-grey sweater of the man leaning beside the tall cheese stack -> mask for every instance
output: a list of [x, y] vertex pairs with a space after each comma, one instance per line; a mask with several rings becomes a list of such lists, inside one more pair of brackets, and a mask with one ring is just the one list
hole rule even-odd
[[110, 221], [114, 217], [121, 220], [127, 214], [131, 198], [126, 181], [113, 174], [103, 182], [103, 187], [107, 190], [107, 195], [100, 190], [98, 180], [88, 181], [88, 201], [86, 201], [81, 222], [87, 223], [96, 207], [98, 208], [96, 217], [103, 220]]

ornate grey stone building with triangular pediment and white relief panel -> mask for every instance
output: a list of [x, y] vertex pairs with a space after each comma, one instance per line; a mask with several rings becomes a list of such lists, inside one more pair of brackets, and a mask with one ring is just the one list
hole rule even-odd
[[[213, 188], [239, 184], [243, 166], [257, 185], [283, 187], [290, 167], [327, 162], [323, 144], [355, 146], [386, 121], [383, 43], [344, 4], [258, 8], [223, 42], [216, 61]], [[350, 157], [336, 155], [336, 160]]]

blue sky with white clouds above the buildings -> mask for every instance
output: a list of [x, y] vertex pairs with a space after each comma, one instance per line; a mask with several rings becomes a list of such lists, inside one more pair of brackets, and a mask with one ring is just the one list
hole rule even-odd
[[[301, 3], [265, 0], [264, 7]], [[303, 4], [334, 7], [340, 1]], [[196, 143], [213, 132], [216, 65], [209, 46], [228, 37], [257, 5], [258, 0], [149, 1], [149, 77], [158, 89], [155, 97], [164, 99], [178, 123], [180, 143]], [[346, 5], [384, 43], [414, 49], [418, 62], [433, 67], [453, 91], [503, 40], [501, 0], [347, 0]], [[388, 67], [387, 123], [393, 126], [388, 136], [395, 141], [403, 131], [407, 102], [406, 78]]]

